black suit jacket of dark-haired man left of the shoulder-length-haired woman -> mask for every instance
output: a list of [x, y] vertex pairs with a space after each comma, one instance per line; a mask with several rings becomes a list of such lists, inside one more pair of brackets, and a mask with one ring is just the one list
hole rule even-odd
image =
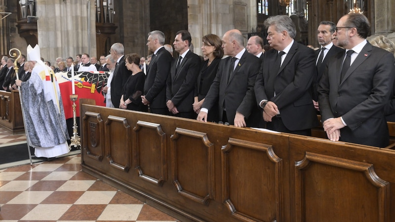
[[194, 89], [200, 73], [200, 57], [191, 50], [187, 52], [176, 69], [174, 60], [167, 78], [166, 100], [171, 100], [179, 112], [193, 112]]

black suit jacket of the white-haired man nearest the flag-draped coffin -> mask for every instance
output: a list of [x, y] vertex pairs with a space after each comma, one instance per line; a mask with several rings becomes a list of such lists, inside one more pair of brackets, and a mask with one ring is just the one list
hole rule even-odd
[[119, 63], [115, 67], [113, 79], [111, 80], [111, 102], [115, 108], [119, 108], [122, 88], [126, 80], [132, 73], [125, 66], [125, 56], [122, 55]]

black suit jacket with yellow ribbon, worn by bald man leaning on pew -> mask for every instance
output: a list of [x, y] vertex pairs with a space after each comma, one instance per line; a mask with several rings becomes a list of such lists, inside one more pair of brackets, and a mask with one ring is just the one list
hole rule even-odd
[[232, 125], [235, 124], [236, 112], [240, 112], [247, 119], [246, 123], [249, 127], [251, 126], [250, 122], [259, 122], [259, 120], [254, 121], [249, 118], [251, 112], [259, 111], [254, 104], [254, 83], [259, 72], [259, 58], [245, 50], [229, 79], [231, 60], [231, 57], [221, 60], [217, 75], [204, 99], [202, 108], [206, 108], [210, 112], [211, 107], [218, 106], [220, 120], [225, 108], [228, 121]]

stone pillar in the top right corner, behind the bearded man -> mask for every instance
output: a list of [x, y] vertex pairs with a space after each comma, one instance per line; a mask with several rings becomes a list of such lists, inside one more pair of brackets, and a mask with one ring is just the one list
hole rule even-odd
[[388, 35], [395, 40], [394, 0], [374, 0], [374, 35]]

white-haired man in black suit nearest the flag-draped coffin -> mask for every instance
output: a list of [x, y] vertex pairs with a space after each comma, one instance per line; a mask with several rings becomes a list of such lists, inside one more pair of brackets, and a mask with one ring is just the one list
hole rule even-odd
[[111, 56], [117, 61], [111, 80], [111, 101], [115, 108], [119, 108], [123, 84], [132, 74], [125, 66], [124, 48], [121, 43], [114, 43], [110, 48]]

